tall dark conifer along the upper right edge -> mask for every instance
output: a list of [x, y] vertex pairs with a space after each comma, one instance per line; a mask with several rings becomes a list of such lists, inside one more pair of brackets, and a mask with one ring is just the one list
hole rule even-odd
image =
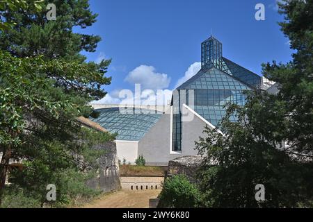
[[[277, 62], [264, 65], [264, 75], [280, 83], [280, 92], [273, 103], [281, 106], [282, 114], [274, 123], [277, 135], [291, 142], [292, 151], [312, 155], [313, 151], [313, 1], [286, 1], [280, 4], [284, 22], [280, 22], [284, 35], [290, 40], [291, 49], [296, 53], [287, 65]], [[263, 109], [263, 108], [262, 108]], [[259, 110], [263, 111], [263, 110]], [[289, 116], [289, 118], [285, 118]], [[273, 117], [271, 119], [274, 119]]]

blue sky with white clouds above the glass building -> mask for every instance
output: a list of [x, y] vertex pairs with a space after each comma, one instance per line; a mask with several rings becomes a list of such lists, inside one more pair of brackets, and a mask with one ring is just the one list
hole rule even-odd
[[[223, 56], [261, 74], [262, 62], [291, 60], [280, 31], [277, 0], [91, 0], [97, 23], [81, 33], [100, 35], [88, 60], [112, 58], [103, 103], [118, 102], [120, 89], [164, 89], [198, 70], [200, 44], [211, 35], [223, 43]], [[255, 5], [265, 6], [265, 21], [255, 19]], [[180, 80], [182, 82], [182, 80]]]

